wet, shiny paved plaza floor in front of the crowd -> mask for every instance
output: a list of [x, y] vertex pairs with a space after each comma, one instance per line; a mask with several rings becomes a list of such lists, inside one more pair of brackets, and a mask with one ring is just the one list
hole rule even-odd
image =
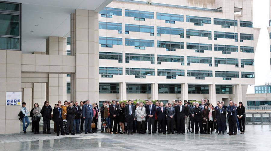
[[246, 125], [245, 135], [148, 135], [148, 134], [56, 134], [0, 135], [0, 150], [268, 150], [271, 143], [271, 125]]

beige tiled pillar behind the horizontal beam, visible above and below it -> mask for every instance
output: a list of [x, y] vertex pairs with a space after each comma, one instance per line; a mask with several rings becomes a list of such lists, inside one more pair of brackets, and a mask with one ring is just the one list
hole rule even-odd
[[[46, 54], [67, 54], [66, 38], [49, 36], [49, 38], [46, 39], [46, 45]], [[56, 102], [57, 100], [61, 100], [61, 102], [64, 102], [67, 100], [67, 74], [49, 74], [48, 81], [48, 101]]]

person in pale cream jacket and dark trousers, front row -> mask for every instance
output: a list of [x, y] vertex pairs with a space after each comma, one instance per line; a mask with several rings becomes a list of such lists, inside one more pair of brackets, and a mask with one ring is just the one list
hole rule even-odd
[[139, 107], [136, 108], [136, 120], [137, 120], [137, 132], [138, 134], [144, 134], [145, 131], [145, 121], [146, 121], [146, 109], [143, 103], [139, 103]]

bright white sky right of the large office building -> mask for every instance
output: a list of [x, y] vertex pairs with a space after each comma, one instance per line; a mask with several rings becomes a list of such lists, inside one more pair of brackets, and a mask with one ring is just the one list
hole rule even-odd
[[[268, 0], [253, 1], [253, 27], [261, 28], [254, 56], [255, 85], [271, 82], [270, 47], [269, 47], [269, 2]], [[247, 93], [254, 93], [254, 85], [248, 86]]]

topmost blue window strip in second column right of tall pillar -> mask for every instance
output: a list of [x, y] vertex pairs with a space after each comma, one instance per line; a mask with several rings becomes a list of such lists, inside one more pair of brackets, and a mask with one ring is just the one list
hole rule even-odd
[[[154, 13], [149, 12], [149, 11], [135, 11], [135, 10], [125, 9], [125, 16], [135, 17], [135, 18], [138, 18], [138, 20], [140, 20], [140, 19], [145, 20], [145, 18], [154, 19]], [[144, 20], [142, 20], [142, 21], [144, 21]]]

